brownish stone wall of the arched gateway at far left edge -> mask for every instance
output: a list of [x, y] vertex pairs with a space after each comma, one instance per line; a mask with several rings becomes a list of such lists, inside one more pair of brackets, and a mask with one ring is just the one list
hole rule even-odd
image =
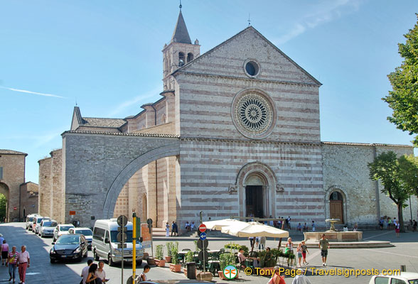
[[[19, 218], [19, 190], [25, 182], [26, 154], [0, 153], [0, 167], [3, 168], [3, 178], [0, 180], [0, 193], [8, 200], [6, 220], [17, 221]], [[15, 210], [16, 208], [16, 210]]]

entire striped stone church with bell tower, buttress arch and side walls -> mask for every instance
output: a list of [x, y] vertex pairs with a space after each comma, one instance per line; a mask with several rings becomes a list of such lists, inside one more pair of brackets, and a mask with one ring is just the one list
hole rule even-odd
[[[252, 26], [200, 55], [180, 12], [163, 48], [163, 82], [161, 99], [124, 119], [85, 117], [75, 107], [55, 153], [59, 170], [39, 162], [40, 176], [45, 169], [60, 182], [40, 194], [65, 204], [43, 195], [41, 212], [91, 226], [134, 210], [181, 228], [200, 211], [319, 226], [397, 216], [367, 164], [385, 151], [412, 154], [412, 146], [321, 141], [321, 83]], [[405, 219], [417, 218], [417, 204], [411, 197]]]

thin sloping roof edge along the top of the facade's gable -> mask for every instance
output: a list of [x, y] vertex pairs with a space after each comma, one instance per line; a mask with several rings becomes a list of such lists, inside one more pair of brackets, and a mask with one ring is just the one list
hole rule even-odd
[[236, 35], [233, 35], [231, 38], [225, 40], [223, 43], [220, 43], [219, 45], [216, 45], [214, 48], [212, 48], [212, 49], [208, 50], [207, 52], [203, 53], [203, 55], [200, 55], [198, 58], [195, 58], [191, 62], [188, 62], [186, 65], [183, 65], [182, 67], [178, 68], [177, 70], [175, 70], [174, 72], [172, 72], [171, 75], [176, 74], [176, 72], [181, 72], [183, 70], [186, 70], [187, 67], [195, 64], [195, 62], [198, 62], [202, 58], [207, 57], [208, 55], [210, 55], [210, 53], [213, 53], [215, 50], [218, 50], [221, 46], [225, 45], [226, 43], [229, 43], [230, 41], [234, 40], [235, 38], [237, 38], [238, 36], [242, 35], [243, 33], [246, 33], [247, 31], [254, 31], [255, 33], [257, 33], [257, 35], [259, 35], [260, 38], [262, 38], [263, 40], [265, 40], [269, 45], [272, 46], [272, 48], [274, 48], [275, 50], [277, 50], [277, 52], [279, 52], [282, 56], [284, 56], [284, 58], [286, 58], [287, 60], [289, 60], [293, 65], [295, 65], [299, 70], [301, 70], [301, 72], [303, 72], [306, 76], [308, 76], [311, 80], [313, 80], [316, 85], [318, 85], [318, 86], [321, 86], [322, 85], [322, 83], [319, 82], [318, 80], [316, 80], [314, 76], [312, 76], [311, 74], [309, 74], [309, 72], [307, 72], [306, 70], [304, 70], [304, 68], [302, 68], [301, 66], [299, 66], [296, 62], [294, 62], [294, 60], [291, 60], [291, 58], [289, 58], [289, 56], [287, 56], [282, 50], [280, 50], [279, 48], [277, 48], [276, 45], [274, 45], [270, 40], [268, 40], [267, 38], [265, 38], [264, 35], [262, 35], [259, 31], [257, 31], [252, 26], [249, 26], [248, 28], [245, 28], [244, 30], [240, 31], [240, 33], [237, 33]]

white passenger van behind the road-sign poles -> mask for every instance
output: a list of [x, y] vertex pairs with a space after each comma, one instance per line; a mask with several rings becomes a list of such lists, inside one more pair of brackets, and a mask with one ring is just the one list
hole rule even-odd
[[[117, 219], [97, 220], [93, 228], [92, 251], [95, 261], [100, 258], [107, 259], [109, 266], [122, 262], [122, 249], [118, 249], [117, 245]], [[132, 262], [132, 222], [127, 224], [127, 247], [124, 248], [124, 261]], [[144, 256], [144, 249], [139, 241], [136, 242], [136, 263], [141, 265]]]

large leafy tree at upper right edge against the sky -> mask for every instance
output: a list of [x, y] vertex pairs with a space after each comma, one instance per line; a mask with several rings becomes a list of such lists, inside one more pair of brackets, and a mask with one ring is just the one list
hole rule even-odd
[[[382, 100], [393, 109], [392, 116], [387, 119], [398, 129], [409, 131], [412, 135], [418, 133], [418, 22], [404, 37], [406, 42], [398, 44], [404, 60], [395, 72], [387, 75], [392, 91]], [[418, 146], [418, 137], [412, 142]]]

